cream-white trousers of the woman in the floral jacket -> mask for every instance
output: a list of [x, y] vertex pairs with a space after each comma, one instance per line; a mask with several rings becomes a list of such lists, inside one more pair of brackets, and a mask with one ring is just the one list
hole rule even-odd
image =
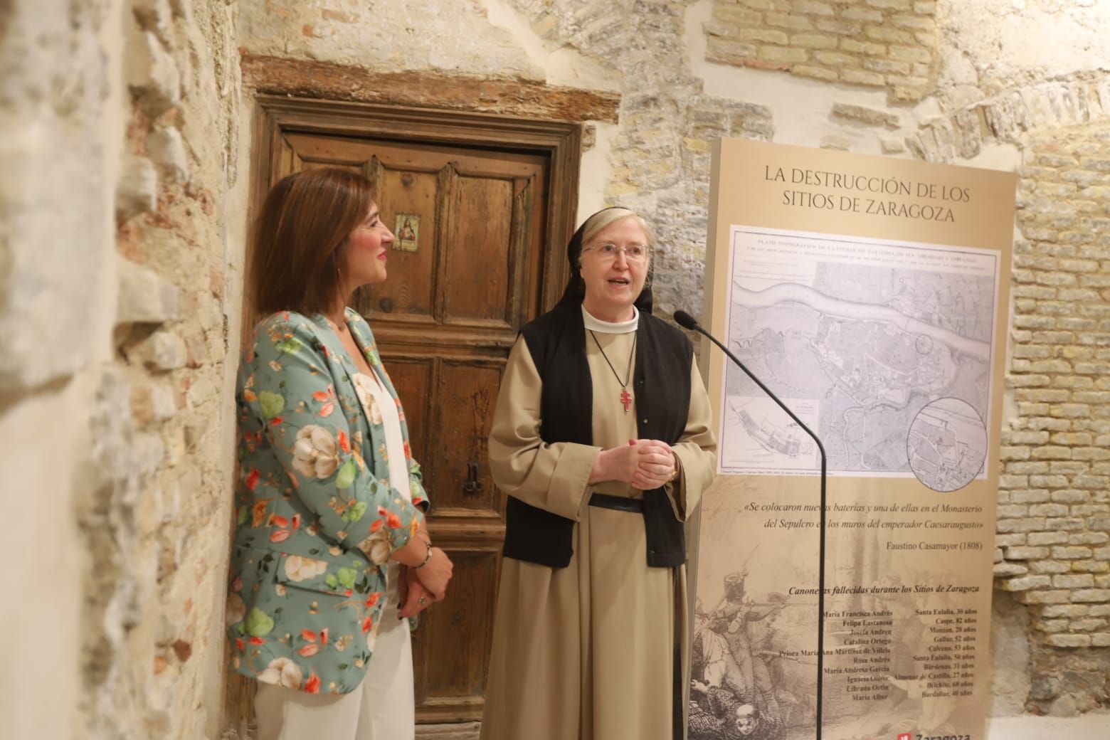
[[390, 564], [386, 605], [362, 685], [340, 695], [259, 683], [258, 740], [413, 740], [412, 640], [408, 620], [397, 619], [397, 577]]

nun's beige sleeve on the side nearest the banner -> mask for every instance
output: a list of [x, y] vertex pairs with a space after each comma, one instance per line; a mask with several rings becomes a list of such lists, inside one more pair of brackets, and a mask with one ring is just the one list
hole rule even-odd
[[717, 437], [713, 433], [713, 408], [706, 393], [697, 357], [690, 363], [690, 409], [686, 428], [678, 442], [672, 445], [678, 457], [679, 474], [667, 485], [675, 515], [685, 521], [702, 500], [702, 491], [713, 483], [717, 468]]

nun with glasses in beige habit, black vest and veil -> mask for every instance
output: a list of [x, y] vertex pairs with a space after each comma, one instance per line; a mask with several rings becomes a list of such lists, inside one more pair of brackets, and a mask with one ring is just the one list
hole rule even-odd
[[652, 315], [652, 233], [605, 209], [508, 356], [490, 466], [508, 494], [482, 740], [683, 737], [683, 523], [716, 439], [693, 348]]

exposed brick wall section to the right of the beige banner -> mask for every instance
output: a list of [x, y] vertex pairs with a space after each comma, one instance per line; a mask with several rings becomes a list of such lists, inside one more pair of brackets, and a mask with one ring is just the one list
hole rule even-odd
[[995, 572], [1046, 645], [1110, 647], [1110, 123], [1026, 151]]

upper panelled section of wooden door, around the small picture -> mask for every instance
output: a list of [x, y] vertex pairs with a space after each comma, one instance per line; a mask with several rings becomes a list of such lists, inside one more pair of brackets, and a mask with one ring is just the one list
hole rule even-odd
[[420, 219], [417, 251], [395, 242], [390, 280], [360, 292], [367, 318], [514, 331], [535, 306], [529, 265], [542, 260], [528, 257], [542, 244], [544, 158], [299, 134], [283, 142], [302, 166], [362, 169], [391, 230], [397, 214]]

